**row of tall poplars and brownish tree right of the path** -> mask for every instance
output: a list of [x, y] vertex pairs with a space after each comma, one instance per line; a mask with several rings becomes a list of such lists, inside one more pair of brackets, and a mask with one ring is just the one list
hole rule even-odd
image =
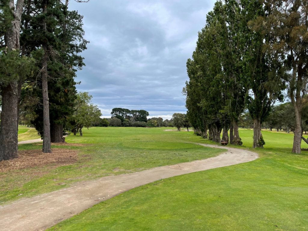
[[238, 124], [247, 109], [253, 119], [253, 147], [263, 147], [261, 125], [287, 88], [295, 118], [292, 151], [300, 153], [308, 90], [307, 9], [307, 1], [215, 3], [187, 61], [189, 81], [183, 90], [197, 134], [219, 142], [223, 131], [223, 140], [241, 145]]

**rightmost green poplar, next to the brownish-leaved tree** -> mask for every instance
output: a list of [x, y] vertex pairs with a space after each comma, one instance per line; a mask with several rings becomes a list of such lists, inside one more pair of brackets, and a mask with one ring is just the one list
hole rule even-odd
[[[260, 17], [268, 17], [271, 9], [260, 4], [258, 0], [241, 1], [242, 14], [247, 20], [252, 21]], [[261, 133], [261, 125], [269, 115], [273, 104], [282, 100], [281, 90], [284, 85], [280, 81], [282, 71], [281, 63], [265, 52], [267, 44], [274, 38], [270, 33], [253, 26], [253, 23], [244, 27], [245, 55], [243, 57], [244, 75], [247, 78], [249, 96], [247, 107], [253, 118], [253, 148], [262, 148], [265, 144]]]

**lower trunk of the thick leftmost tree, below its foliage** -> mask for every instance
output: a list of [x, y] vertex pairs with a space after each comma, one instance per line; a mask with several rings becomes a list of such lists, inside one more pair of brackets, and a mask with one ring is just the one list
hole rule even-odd
[[17, 81], [1, 87], [1, 91], [0, 161], [18, 157]]

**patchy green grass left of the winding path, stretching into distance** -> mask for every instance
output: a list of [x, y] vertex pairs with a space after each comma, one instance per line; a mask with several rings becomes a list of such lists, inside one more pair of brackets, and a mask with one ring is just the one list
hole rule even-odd
[[[165, 132], [164, 129], [90, 128], [83, 131], [82, 137], [70, 135], [67, 142], [85, 146], [57, 148], [78, 149], [76, 163], [0, 173], [0, 203], [55, 191], [83, 180], [206, 159], [222, 151], [192, 144], [204, 141], [191, 132]], [[22, 144], [19, 150], [41, 149], [41, 145]]]

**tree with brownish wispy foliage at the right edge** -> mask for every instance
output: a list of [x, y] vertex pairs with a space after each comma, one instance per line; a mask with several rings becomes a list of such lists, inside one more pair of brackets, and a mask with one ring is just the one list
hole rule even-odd
[[308, 2], [265, 1], [273, 13], [261, 18], [260, 27], [275, 39], [268, 43], [267, 52], [285, 68], [281, 75], [288, 83], [288, 91], [295, 113], [292, 152], [301, 152], [303, 98], [308, 92]]

